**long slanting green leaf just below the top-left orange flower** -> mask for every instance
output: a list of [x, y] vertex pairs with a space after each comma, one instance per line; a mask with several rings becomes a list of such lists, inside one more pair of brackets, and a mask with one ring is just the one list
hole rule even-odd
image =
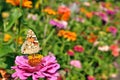
[[9, 23], [5, 27], [5, 32], [7, 32], [21, 16], [22, 16], [22, 11], [19, 8], [13, 9], [9, 17]]

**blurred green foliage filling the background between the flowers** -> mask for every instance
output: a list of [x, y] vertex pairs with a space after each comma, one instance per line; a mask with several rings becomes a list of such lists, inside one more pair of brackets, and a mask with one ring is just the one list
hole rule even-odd
[[[86, 1], [91, 4], [89, 7], [83, 4], [83, 0], [80, 0], [80, 5], [78, 1], [78, 7], [84, 7], [87, 12], [102, 12], [102, 10], [99, 9], [101, 0], [98, 2], [92, 2], [90, 0]], [[104, 1], [109, 2], [110, 0]], [[3, 16], [0, 15], [0, 68], [6, 69], [10, 74], [13, 73], [11, 66], [15, 65], [15, 57], [22, 55], [22, 44], [19, 43], [20, 41], [18, 38], [22, 37], [21, 42], [23, 43], [26, 40], [27, 30], [32, 29], [42, 48], [42, 50], [39, 51], [39, 54], [46, 56], [48, 55], [48, 52], [52, 52], [61, 66], [59, 71], [68, 69], [66, 74], [63, 75], [65, 80], [86, 80], [86, 77], [89, 75], [96, 77], [96, 80], [102, 80], [104, 75], [107, 76], [106, 80], [108, 80], [112, 74], [117, 74], [117, 68], [113, 63], [120, 62], [119, 56], [114, 57], [110, 49], [108, 51], [102, 51], [98, 48], [106, 45], [110, 48], [112, 44], [116, 44], [120, 47], [120, 27], [119, 24], [115, 24], [115, 22], [120, 22], [120, 12], [115, 15], [107, 15], [109, 20], [112, 18], [113, 20], [108, 21], [106, 24], [103, 24], [101, 17], [94, 14], [92, 18], [88, 18], [85, 13], [80, 11], [71, 13], [71, 17], [67, 21], [68, 26], [66, 30], [75, 32], [77, 34], [77, 40], [70, 41], [64, 37], [58, 37], [57, 33], [59, 29], [56, 29], [49, 24], [49, 21], [58, 18], [58, 15], [49, 15], [43, 10], [46, 6], [50, 6], [57, 12], [60, 5], [64, 4], [69, 6], [73, 2], [74, 0], [70, 0], [69, 2], [68, 0], [38, 0], [38, 2], [33, 0], [33, 8], [28, 9], [8, 5], [1, 0], [0, 14], [7, 11], [9, 17], [4, 19]], [[40, 6], [35, 8], [37, 3], [39, 3]], [[5, 4], [5, 7], [3, 4]], [[120, 3], [117, 3], [116, 5], [111, 3], [111, 5], [111, 8], [114, 9], [115, 6], [120, 6]], [[36, 18], [28, 18], [30, 14], [34, 16], [34, 18], [36, 16]], [[79, 17], [83, 18], [84, 22], [75, 20], [75, 18]], [[115, 26], [118, 30], [116, 35], [107, 31], [107, 28], [110, 26]], [[8, 41], [4, 41], [5, 34], [11, 36]], [[97, 37], [93, 42], [89, 41], [91, 34], [94, 34], [94, 36]], [[95, 45], [96, 41], [99, 42], [97, 45]], [[117, 43], [115, 43], [116, 41]], [[84, 48], [84, 51], [74, 51], [74, 46], [76, 45], [81, 45]], [[69, 56], [67, 53], [68, 50], [73, 50], [75, 53], [74, 56]], [[71, 66], [71, 60], [79, 60], [82, 68]], [[31, 77], [28, 78], [28, 80], [32, 80]]]

